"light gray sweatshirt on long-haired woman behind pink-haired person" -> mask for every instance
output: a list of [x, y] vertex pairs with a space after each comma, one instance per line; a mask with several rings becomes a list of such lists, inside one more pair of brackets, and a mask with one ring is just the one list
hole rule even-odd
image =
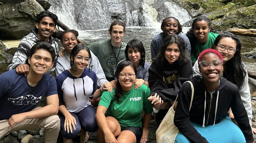
[[[250, 94], [250, 88], [248, 85], [248, 74], [247, 74], [245, 64], [244, 64], [244, 68], [246, 71], [246, 75], [245, 75], [245, 79], [244, 79], [244, 84], [243, 84], [241, 90], [239, 91], [239, 93], [241, 95], [242, 103], [244, 104], [247, 116], [249, 118], [249, 123], [252, 126], [253, 113], [252, 113], [251, 94]], [[196, 63], [193, 66], [193, 76], [196, 76], [196, 75], [200, 75], [199, 68], [198, 68], [198, 60], [196, 61]]]

